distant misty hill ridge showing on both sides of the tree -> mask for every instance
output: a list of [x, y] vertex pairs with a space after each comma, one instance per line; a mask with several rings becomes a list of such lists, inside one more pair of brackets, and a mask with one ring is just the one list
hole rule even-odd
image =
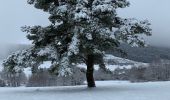
[[[23, 50], [29, 48], [31, 45], [26, 44], [10, 44], [0, 46], [0, 60], [5, 59], [8, 55], [17, 50]], [[128, 45], [121, 45], [120, 47], [127, 52], [126, 59], [130, 59], [137, 62], [150, 63], [157, 59], [170, 60], [170, 48], [149, 46], [146, 48], [130, 47]], [[122, 57], [119, 53], [108, 51], [107, 53], [113, 54], [117, 57]]]

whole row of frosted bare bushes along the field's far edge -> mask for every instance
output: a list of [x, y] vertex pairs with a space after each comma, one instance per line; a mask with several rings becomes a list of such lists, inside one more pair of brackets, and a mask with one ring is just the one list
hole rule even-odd
[[[39, 69], [37, 73], [26, 77], [23, 72], [12, 74], [9, 72], [0, 72], [0, 86], [73, 86], [84, 85], [86, 81], [86, 69], [73, 67], [74, 74], [70, 76], [58, 76], [49, 72], [48, 69]], [[147, 66], [133, 66], [131, 68], [119, 68], [114, 71], [99, 67], [94, 71], [94, 79], [104, 80], [126, 80], [130, 82], [150, 82], [150, 81], [170, 81], [170, 61], [156, 60]]]

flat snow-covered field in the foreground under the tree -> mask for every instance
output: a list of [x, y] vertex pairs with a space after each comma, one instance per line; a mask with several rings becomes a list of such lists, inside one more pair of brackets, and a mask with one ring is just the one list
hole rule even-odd
[[0, 100], [170, 100], [170, 82], [97, 82], [97, 87], [0, 88]]

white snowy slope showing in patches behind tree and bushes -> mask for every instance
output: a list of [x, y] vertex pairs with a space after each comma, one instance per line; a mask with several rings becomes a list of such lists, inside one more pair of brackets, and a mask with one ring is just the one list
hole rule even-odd
[[[142, 63], [142, 62], [135, 62], [135, 61], [132, 61], [132, 60], [128, 60], [128, 59], [124, 59], [124, 58], [120, 58], [120, 57], [115, 57], [113, 55], [105, 55], [104, 57], [105, 59], [105, 62], [106, 62], [106, 67], [108, 69], [110, 69], [111, 71], [114, 71], [116, 68], [131, 68], [133, 66], [147, 66], [148, 64], [147, 63]], [[0, 61], [0, 71], [2, 70], [2, 61]], [[46, 61], [44, 62], [43, 64], [40, 65], [40, 68], [49, 68], [51, 65], [51, 62], [50, 61]], [[86, 68], [86, 65], [85, 64], [78, 64], [77, 67], [80, 67], [80, 68]], [[96, 70], [98, 70], [99, 68], [99, 65], [95, 65], [94, 68]], [[26, 73], [26, 76], [30, 76], [31, 75], [31, 69], [30, 68], [26, 68], [24, 70], [24, 72]]]

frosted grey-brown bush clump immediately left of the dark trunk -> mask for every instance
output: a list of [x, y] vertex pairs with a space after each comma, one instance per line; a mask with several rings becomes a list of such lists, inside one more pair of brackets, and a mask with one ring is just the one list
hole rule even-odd
[[85, 81], [85, 69], [73, 68], [73, 74], [69, 76], [58, 76], [50, 73], [48, 69], [39, 69], [37, 73], [29, 77], [28, 87], [40, 86], [72, 86], [82, 85]]

